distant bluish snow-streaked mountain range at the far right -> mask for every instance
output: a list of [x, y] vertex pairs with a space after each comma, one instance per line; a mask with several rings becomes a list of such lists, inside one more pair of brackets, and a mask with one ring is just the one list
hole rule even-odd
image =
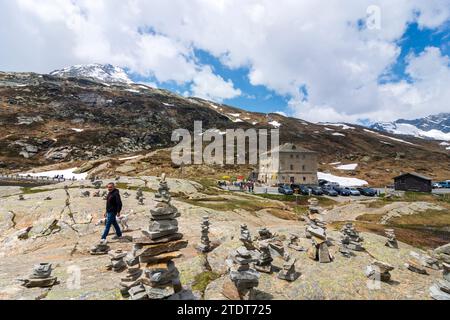
[[371, 128], [422, 139], [450, 141], [450, 113], [440, 113], [415, 120], [378, 122], [371, 125]]

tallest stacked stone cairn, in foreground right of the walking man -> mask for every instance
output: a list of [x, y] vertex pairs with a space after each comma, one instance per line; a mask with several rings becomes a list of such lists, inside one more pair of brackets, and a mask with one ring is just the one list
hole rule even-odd
[[[121, 282], [121, 292], [131, 300], [147, 299], [190, 299], [192, 292], [184, 290], [178, 269], [172, 261], [181, 256], [180, 249], [187, 247], [178, 233], [180, 216], [178, 209], [171, 204], [169, 187], [162, 175], [158, 192], [155, 194], [156, 208], [150, 210], [148, 230], [143, 236], [134, 239], [132, 252], [126, 257], [128, 274]], [[145, 265], [143, 270], [140, 266]]]

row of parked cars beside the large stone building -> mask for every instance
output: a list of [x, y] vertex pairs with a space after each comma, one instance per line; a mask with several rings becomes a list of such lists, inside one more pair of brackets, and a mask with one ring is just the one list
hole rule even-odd
[[351, 187], [341, 187], [335, 183], [327, 183], [318, 187], [310, 187], [300, 184], [281, 184], [278, 186], [278, 192], [281, 194], [291, 195], [294, 193], [301, 195], [315, 195], [322, 196], [327, 195], [331, 197], [337, 196], [368, 196], [374, 197], [377, 195], [377, 191], [372, 188], [351, 188]]

